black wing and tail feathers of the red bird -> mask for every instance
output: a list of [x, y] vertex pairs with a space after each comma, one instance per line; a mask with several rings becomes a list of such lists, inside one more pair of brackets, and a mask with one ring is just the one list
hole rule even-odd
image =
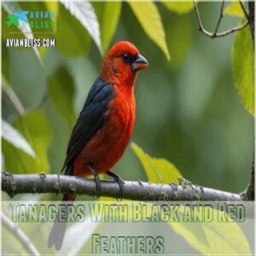
[[[101, 78], [96, 79], [69, 139], [67, 156], [62, 167], [62, 171], [66, 169], [65, 175], [73, 175], [73, 160], [105, 124], [108, 118], [105, 113], [108, 110], [108, 103], [113, 99], [113, 96], [113, 84], [105, 83]], [[62, 203], [67, 204], [67, 199], [68, 195], [64, 195]], [[58, 212], [59, 214], [61, 213]], [[59, 218], [61, 219], [61, 216]], [[61, 249], [66, 227], [66, 221], [55, 221], [49, 233], [48, 247], [55, 245], [56, 250]]]

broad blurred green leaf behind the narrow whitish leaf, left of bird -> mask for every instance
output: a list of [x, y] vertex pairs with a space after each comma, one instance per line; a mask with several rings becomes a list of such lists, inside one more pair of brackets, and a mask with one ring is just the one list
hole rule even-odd
[[49, 172], [47, 150], [51, 140], [51, 129], [44, 112], [35, 110], [27, 113], [16, 119], [13, 125], [32, 146], [36, 158], [3, 140], [6, 170], [13, 173]]

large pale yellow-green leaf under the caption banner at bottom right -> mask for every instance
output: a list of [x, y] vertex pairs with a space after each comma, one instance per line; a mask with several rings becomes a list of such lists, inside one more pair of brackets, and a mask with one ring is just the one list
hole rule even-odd
[[[183, 219], [185, 207], [180, 206], [178, 216]], [[169, 222], [172, 229], [203, 255], [251, 255], [247, 239], [236, 222], [219, 222], [226, 213], [212, 209], [211, 222]], [[191, 210], [193, 216], [194, 210]], [[198, 214], [198, 213], [197, 213]], [[202, 213], [204, 214], [204, 213]]]

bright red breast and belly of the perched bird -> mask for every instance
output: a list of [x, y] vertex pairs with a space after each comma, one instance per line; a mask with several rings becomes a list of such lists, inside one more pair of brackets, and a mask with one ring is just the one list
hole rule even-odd
[[97, 173], [111, 169], [124, 154], [133, 131], [136, 103], [133, 87], [126, 90], [114, 85], [114, 98], [108, 103], [107, 121], [75, 160], [74, 175], [87, 177], [90, 163]]

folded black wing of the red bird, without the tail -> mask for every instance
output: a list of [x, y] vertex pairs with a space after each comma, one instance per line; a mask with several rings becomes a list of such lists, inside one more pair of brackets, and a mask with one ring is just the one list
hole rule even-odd
[[107, 119], [105, 113], [108, 110], [108, 102], [113, 96], [113, 84], [104, 82], [100, 77], [96, 79], [68, 142], [67, 156], [62, 167], [62, 171], [67, 167], [67, 173], [65, 172], [65, 174], [71, 174], [73, 170], [70, 169], [73, 168], [68, 168], [68, 166], [73, 166], [74, 158], [90, 139], [95, 136], [96, 131], [105, 124]]

